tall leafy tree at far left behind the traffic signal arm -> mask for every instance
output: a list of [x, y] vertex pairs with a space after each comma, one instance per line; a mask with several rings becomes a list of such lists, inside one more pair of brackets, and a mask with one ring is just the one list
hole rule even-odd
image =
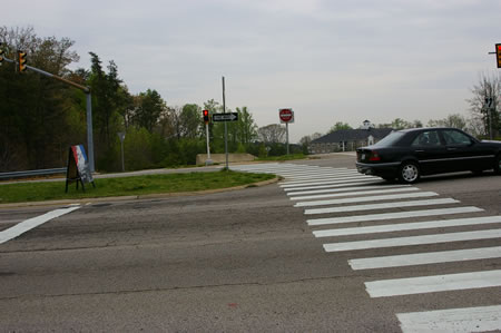
[[[32, 28], [0, 27], [6, 57], [14, 50], [28, 53], [29, 65], [66, 76], [67, 66], [78, 60], [67, 38], [39, 38]], [[33, 71], [16, 74], [14, 65], [0, 67], [0, 170], [59, 167], [66, 164], [67, 149], [76, 128], [69, 127], [69, 97], [73, 88]], [[72, 123], [73, 125], [75, 123]]]

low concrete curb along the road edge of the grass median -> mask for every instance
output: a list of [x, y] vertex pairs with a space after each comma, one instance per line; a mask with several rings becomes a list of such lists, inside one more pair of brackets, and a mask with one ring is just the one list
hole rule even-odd
[[61, 199], [61, 200], [47, 200], [47, 202], [0, 204], [0, 209], [17, 208], [17, 207], [40, 207], [40, 206], [70, 205], [70, 204], [88, 204], [90, 202], [97, 202], [97, 203], [99, 203], [99, 202], [125, 202], [125, 200], [178, 197], [178, 196], [205, 195], [205, 194], [213, 194], [213, 193], [245, 189], [245, 188], [250, 188], [250, 187], [261, 187], [261, 186], [277, 183], [278, 180], [279, 180], [279, 177], [275, 177], [275, 178], [272, 178], [268, 180], [250, 183], [250, 184], [239, 185], [239, 186], [234, 186], [234, 187], [193, 190], [193, 192], [175, 192], [175, 193], [158, 193], [158, 194], [144, 194], [144, 195], [110, 196], [110, 197], [98, 197], [98, 198], [89, 197], [89, 198], [81, 198], [81, 199]]

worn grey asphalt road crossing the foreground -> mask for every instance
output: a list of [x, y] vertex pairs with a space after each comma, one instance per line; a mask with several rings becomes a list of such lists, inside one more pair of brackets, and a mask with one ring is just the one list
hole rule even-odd
[[[443, 316], [454, 331], [471, 323], [472, 331], [501, 329], [501, 177], [434, 176], [393, 192], [397, 184], [353, 173], [348, 155], [264, 168], [285, 182], [210, 195], [0, 208], [1, 233], [48, 212], [63, 214], [0, 244], [0, 330], [401, 332], [402, 324], [407, 332], [405, 323], [414, 323], [409, 313], [435, 329]], [[422, 196], [413, 198], [415, 193]], [[430, 202], [409, 206], [415, 200]], [[434, 209], [445, 210], [413, 215]], [[394, 213], [400, 217], [374, 217]], [[463, 224], [440, 225], [459, 219]], [[415, 225], [436, 221], [439, 226]], [[449, 234], [465, 239], [411, 245], [409, 238]], [[387, 238], [405, 239], [390, 247], [377, 243]], [[491, 252], [483, 256], [478, 248]], [[418, 265], [410, 256], [401, 257], [403, 264], [364, 267], [393, 262], [386, 256], [461, 249], [477, 257], [435, 254], [435, 263], [428, 257]], [[436, 277], [438, 290], [426, 290], [433, 281], [416, 280], [424, 277]], [[471, 315], [451, 320], [449, 311], [458, 308]], [[477, 312], [491, 316], [479, 322]], [[442, 316], [426, 317], [434, 314]]]

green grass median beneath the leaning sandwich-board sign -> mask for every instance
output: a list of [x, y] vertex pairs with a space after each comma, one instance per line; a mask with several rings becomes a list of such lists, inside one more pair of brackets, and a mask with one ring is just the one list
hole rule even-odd
[[252, 185], [274, 177], [224, 170], [99, 178], [95, 179], [96, 188], [86, 184], [86, 192], [81, 190], [81, 186], [77, 190], [73, 183], [69, 185], [68, 193], [65, 193], [66, 180], [3, 184], [0, 185], [0, 204], [198, 192]]

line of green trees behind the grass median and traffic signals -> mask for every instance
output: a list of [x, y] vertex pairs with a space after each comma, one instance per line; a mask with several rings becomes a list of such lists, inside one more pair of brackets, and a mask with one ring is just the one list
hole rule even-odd
[[[90, 69], [70, 70], [69, 65], [79, 60], [71, 51], [73, 41], [39, 38], [32, 28], [0, 28], [0, 42], [4, 57], [16, 59], [16, 50], [23, 50], [29, 66], [90, 88], [97, 170], [121, 169], [118, 133], [126, 133], [128, 170], [194, 165], [196, 155], [206, 153], [202, 110], [220, 112], [222, 106], [214, 99], [203, 107], [195, 104], [179, 107], [168, 106], [155, 89], [130, 94], [117, 65], [109, 61], [105, 69], [94, 52], [89, 52]], [[230, 153], [285, 154], [282, 126], [258, 128], [247, 107], [237, 107], [235, 111], [239, 120], [227, 124]], [[274, 131], [279, 134], [276, 136]], [[224, 123], [209, 124], [209, 137], [212, 153], [224, 153]], [[17, 72], [14, 63], [3, 61], [0, 172], [63, 167], [68, 147], [76, 144], [87, 147], [86, 94], [35, 71]]]

